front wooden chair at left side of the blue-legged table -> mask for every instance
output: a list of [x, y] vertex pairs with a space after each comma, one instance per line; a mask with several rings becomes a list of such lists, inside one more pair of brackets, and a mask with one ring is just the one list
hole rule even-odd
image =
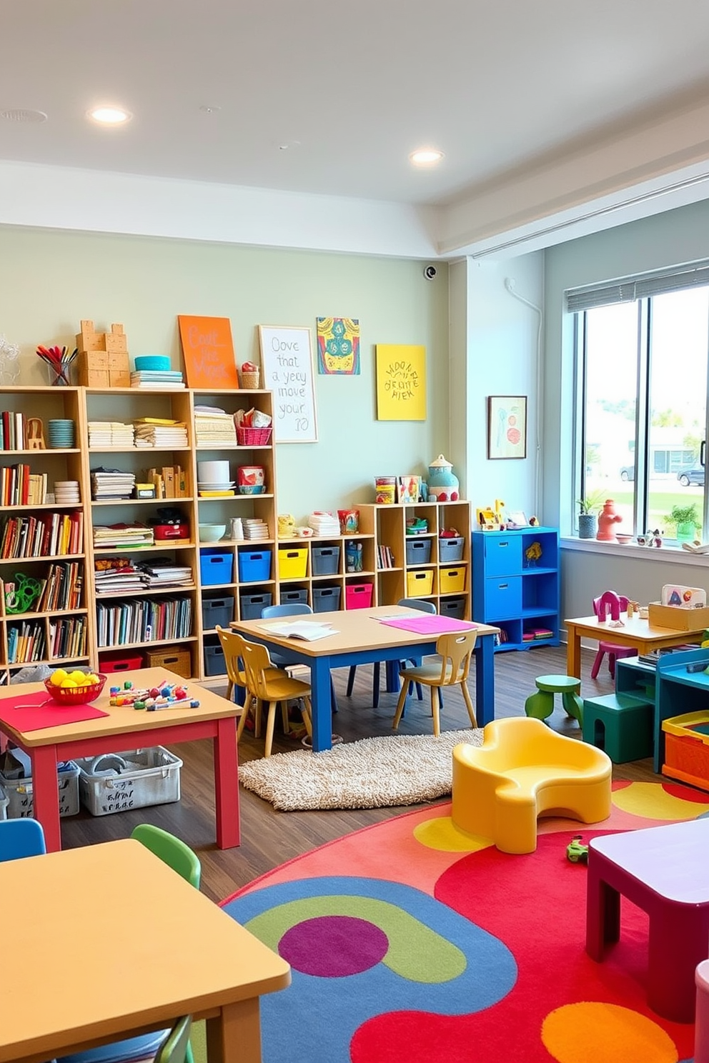
[[268, 705], [266, 749], [264, 756], [270, 757], [271, 746], [273, 745], [275, 710], [281, 705], [283, 729], [284, 731], [288, 731], [288, 702], [294, 698], [298, 698], [301, 703], [303, 723], [305, 724], [306, 731], [311, 737], [310, 685], [303, 682], [301, 679], [292, 679], [283, 669], [274, 668], [268, 649], [258, 642], [247, 642], [246, 639], [241, 639], [241, 646], [238, 653], [243, 661], [247, 681], [247, 705], [239, 720], [236, 732], [237, 740], [241, 738], [247, 716], [250, 712], [254, 714], [254, 733], [256, 738], [260, 736], [260, 705], [261, 703]]

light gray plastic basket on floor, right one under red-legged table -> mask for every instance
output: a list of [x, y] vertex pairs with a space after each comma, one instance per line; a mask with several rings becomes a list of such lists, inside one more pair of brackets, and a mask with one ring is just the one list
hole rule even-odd
[[91, 815], [180, 800], [182, 761], [162, 745], [80, 758], [79, 795]]

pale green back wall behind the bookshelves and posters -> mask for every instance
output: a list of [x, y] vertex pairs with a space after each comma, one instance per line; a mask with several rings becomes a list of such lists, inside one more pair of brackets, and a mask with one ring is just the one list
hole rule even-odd
[[[122, 322], [131, 355], [180, 365], [178, 314], [227, 317], [237, 362], [258, 361], [258, 324], [359, 318], [359, 376], [316, 373], [319, 441], [277, 449], [278, 509], [373, 501], [373, 477], [426, 472], [449, 449], [448, 268], [420, 261], [278, 251], [152, 237], [0, 227], [0, 335], [22, 351], [20, 383], [45, 384], [38, 343], [71, 344], [82, 318]], [[375, 343], [427, 351], [425, 422], [377, 421]]]

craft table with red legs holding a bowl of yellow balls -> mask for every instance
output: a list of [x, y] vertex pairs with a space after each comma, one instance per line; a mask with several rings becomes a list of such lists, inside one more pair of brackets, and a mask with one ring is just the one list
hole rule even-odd
[[[118, 678], [116, 681], [118, 682]], [[185, 685], [182, 676], [166, 669], [141, 669], [121, 672], [120, 685], [132, 681], [136, 689]], [[45, 830], [49, 853], [62, 848], [56, 765], [74, 757], [94, 757], [101, 753], [144, 748], [146, 745], [175, 745], [209, 738], [214, 742], [215, 805], [217, 845], [229, 849], [239, 844], [239, 779], [236, 752], [236, 716], [241, 709], [210, 690], [187, 684], [188, 693], [199, 701], [198, 708], [175, 706], [158, 712], [133, 706], [108, 704], [111, 676], [103, 693], [91, 704], [106, 715], [80, 723], [63, 723], [62, 706], [56, 706], [56, 726], [22, 730], [22, 710], [11, 709], [18, 695], [36, 692], [37, 702], [48, 698], [45, 685], [28, 682], [0, 688], [0, 731], [7, 735], [32, 760], [34, 816]], [[6, 706], [3, 711], [3, 702]]]

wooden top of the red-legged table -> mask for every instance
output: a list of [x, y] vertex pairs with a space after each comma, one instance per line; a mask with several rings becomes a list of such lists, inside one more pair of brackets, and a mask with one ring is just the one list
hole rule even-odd
[[[136, 689], [150, 688], [161, 684], [181, 684], [187, 688], [191, 697], [199, 701], [199, 708], [161, 709], [159, 712], [146, 712], [141, 709], [134, 709], [132, 705], [113, 706], [108, 705], [111, 686], [121, 686], [125, 680], [131, 680]], [[235, 716], [241, 712], [238, 705], [227, 702], [225, 697], [215, 694], [213, 691], [201, 687], [198, 684], [186, 680], [173, 672], [163, 668], [147, 668], [136, 672], [121, 672], [116, 676], [109, 675], [100, 697], [97, 697], [91, 705], [97, 709], [107, 712], [107, 716], [97, 716], [95, 720], [82, 720], [74, 724], [62, 723], [62, 706], [56, 706], [56, 727], [43, 727], [40, 730], [22, 731], [21, 724], [10, 718], [9, 712], [2, 711], [2, 702], [9, 697], [18, 697], [21, 694], [37, 693], [41, 697], [37, 702], [48, 698], [49, 694], [44, 682], [26, 682], [12, 687], [0, 687], [0, 724], [4, 733], [18, 739], [23, 746], [53, 745], [66, 740], [81, 741], [85, 738], [96, 738], [102, 735], [128, 735], [136, 730], [153, 730], [158, 727], [170, 727], [176, 724], [195, 722], [196, 720], [219, 720], [222, 716]], [[18, 711], [13, 715], [21, 716]]]

